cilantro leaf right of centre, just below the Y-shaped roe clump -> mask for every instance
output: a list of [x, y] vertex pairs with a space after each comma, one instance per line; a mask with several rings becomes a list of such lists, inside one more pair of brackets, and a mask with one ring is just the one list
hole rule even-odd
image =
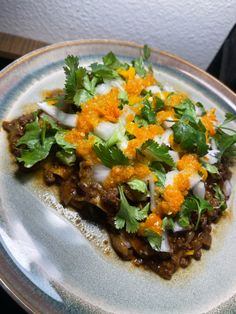
[[141, 146], [141, 152], [149, 159], [162, 161], [169, 166], [174, 166], [174, 160], [169, 154], [168, 146], [157, 144], [154, 140], [147, 140]]

